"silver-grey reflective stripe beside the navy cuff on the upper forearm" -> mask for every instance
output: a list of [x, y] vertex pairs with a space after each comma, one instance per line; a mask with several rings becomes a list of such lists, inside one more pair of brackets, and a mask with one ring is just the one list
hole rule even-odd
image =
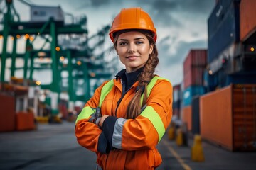
[[122, 149], [122, 130], [124, 128], [124, 123], [127, 119], [118, 118], [114, 124], [114, 132], [112, 137], [112, 146], [117, 149]]

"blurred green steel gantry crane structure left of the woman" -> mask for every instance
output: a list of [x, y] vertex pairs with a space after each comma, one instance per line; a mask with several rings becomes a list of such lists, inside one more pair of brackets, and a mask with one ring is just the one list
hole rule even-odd
[[[88, 38], [87, 18], [83, 16], [77, 23], [65, 24], [63, 17], [51, 16], [46, 21], [23, 22], [14, 8], [13, 1], [5, 0], [6, 13], [1, 12], [3, 30], [0, 30], [0, 38], [3, 39], [1, 52], [1, 91], [6, 82], [6, 59], [11, 58], [11, 77], [15, 76], [17, 69], [23, 69], [23, 86], [30, 86], [33, 82], [35, 70], [50, 69], [52, 81], [50, 84], [41, 84], [41, 89], [50, 91], [50, 114], [58, 114], [58, 101], [62, 91], [68, 91], [69, 108], [73, 109], [75, 101], [87, 101], [90, 98], [90, 79], [109, 79], [113, 72], [105, 68], [103, 60], [104, 52], [95, 55], [96, 48], [103, 45], [105, 35], [110, 26], [105, 26], [95, 35]], [[35, 6], [21, 1], [33, 8], [33, 12], [40, 13], [42, 6]], [[42, 7], [43, 8], [43, 7]], [[31, 9], [32, 10], [32, 9]], [[36, 11], [38, 10], [38, 11]], [[63, 13], [60, 6], [55, 7], [58, 13]], [[4, 10], [1, 10], [4, 11]], [[1, 19], [1, 17], [0, 17]], [[7, 52], [7, 40], [13, 41], [12, 53]], [[26, 39], [26, 52], [18, 54], [16, 45], [18, 38]], [[35, 42], [41, 38], [43, 45], [36, 49]], [[88, 45], [94, 40], [92, 47]], [[50, 47], [47, 47], [50, 45]], [[16, 59], [23, 58], [24, 66], [16, 67]], [[48, 59], [48, 62], [38, 62], [38, 59]], [[36, 62], [35, 62], [36, 61]], [[100, 61], [100, 62], [99, 62]], [[109, 63], [110, 64], [110, 63]], [[68, 72], [68, 77], [63, 77], [62, 72]], [[65, 84], [64, 82], [68, 82]], [[63, 85], [64, 84], [64, 85]], [[77, 89], [82, 89], [80, 94]]]

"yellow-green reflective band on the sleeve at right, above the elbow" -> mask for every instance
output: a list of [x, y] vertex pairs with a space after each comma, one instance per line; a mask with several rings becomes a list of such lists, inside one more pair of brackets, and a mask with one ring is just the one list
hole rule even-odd
[[151, 106], [146, 106], [145, 110], [142, 112], [142, 115], [144, 118], [148, 118], [151, 123], [154, 125], [154, 128], [156, 129], [157, 133], [159, 134], [159, 141], [164, 135], [165, 128], [164, 123], [162, 122], [159, 114], [154, 110]]

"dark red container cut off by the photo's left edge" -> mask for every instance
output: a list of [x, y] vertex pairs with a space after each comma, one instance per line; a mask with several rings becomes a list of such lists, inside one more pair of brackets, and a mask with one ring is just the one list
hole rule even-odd
[[15, 130], [15, 96], [0, 92], [0, 132]]

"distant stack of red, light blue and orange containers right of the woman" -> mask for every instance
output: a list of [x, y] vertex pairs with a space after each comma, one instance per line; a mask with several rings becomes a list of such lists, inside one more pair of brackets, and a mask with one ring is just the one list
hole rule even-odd
[[[193, 96], [205, 93], [203, 86], [203, 74], [206, 69], [207, 50], [191, 50], [183, 62], [183, 109], [182, 120], [187, 123], [188, 130], [192, 128], [192, 108]], [[199, 114], [199, 113], [197, 113]]]

